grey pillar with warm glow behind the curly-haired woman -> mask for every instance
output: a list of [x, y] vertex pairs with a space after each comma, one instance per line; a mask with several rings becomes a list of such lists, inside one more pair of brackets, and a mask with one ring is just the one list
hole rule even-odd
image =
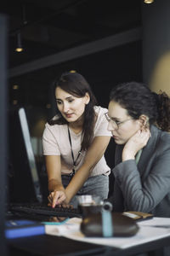
[[168, 0], [142, 7], [144, 82], [151, 90], [165, 90], [170, 96], [169, 10]]

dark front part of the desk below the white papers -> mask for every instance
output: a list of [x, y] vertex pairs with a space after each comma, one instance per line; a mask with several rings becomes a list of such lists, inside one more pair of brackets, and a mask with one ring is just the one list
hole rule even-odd
[[[130, 247], [127, 249], [119, 249], [113, 247], [105, 247], [86, 243], [82, 241], [73, 241], [65, 237], [56, 237], [49, 235], [31, 236], [17, 238], [8, 243], [9, 256], [79, 256], [79, 255], [112, 255], [112, 256], [130, 256], [137, 253], [149, 253], [148, 255], [161, 255], [162, 248], [169, 246], [170, 236], [162, 238], [158, 241], [150, 241], [143, 245]], [[153, 249], [154, 248], [154, 249]], [[156, 250], [160, 253], [156, 254]]]

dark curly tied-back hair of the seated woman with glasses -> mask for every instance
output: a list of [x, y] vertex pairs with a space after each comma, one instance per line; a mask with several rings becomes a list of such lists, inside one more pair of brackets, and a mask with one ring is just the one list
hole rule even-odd
[[150, 125], [170, 131], [170, 98], [165, 92], [152, 92], [145, 84], [128, 82], [117, 84], [111, 90], [110, 100], [118, 102], [133, 119], [145, 114]]

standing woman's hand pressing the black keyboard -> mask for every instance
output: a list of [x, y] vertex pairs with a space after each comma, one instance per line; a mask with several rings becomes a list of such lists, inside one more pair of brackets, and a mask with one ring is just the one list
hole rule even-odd
[[65, 204], [65, 200], [66, 200], [65, 191], [62, 191], [62, 190], [60, 191], [54, 190], [48, 195], [48, 201], [53, 208], [57, 205]]

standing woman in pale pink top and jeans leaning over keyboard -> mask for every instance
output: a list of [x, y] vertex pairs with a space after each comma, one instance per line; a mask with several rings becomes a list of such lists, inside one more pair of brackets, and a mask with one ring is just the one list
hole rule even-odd
[[63, 73], [54, 83], [58, 113], [45, 127], [43, 154], [48, 172], [48, 201], [54, 207], [73, 204], [75, 195], [107, 198], [110, 167], [105, 149], [111, 139], [106, 108], [80, 73]]

